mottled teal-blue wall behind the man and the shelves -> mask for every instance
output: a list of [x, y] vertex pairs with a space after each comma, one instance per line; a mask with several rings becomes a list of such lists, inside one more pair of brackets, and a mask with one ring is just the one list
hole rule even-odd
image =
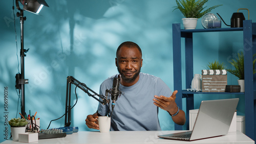
[[[173, 89], [172, 23], [180, 23], [180, 11], [173, 12], [175, 1], [170, 0], [90, 0], [47, 1], [48, 7], [41, 15], [24, 12], [26, 112], [31, 110], [40, 117], [40, 126], [46, 129], [52, 119], [60, 117], [65, 110], [66, 78], [74, 76], [80, 82], [98, 92], [106, 78], [118, 73], [115, 52], [123, 41], [138, 43], [143, 52], [143, 73], [160, 77]], [[230, 23], [233, 12], [239, 8], [250, 10], [250, 19], [256, 17], [254, 1], [210, 0], [207, 7], [223, 4], [212, 11], [218, 12]], [[0, 6], [0, 142], [5, 140], [5, 114], [8, 120], [19, 117], [20, 107], [15, 90], [15, 75], [20, 71], [20, 23], [15, 17], [17, 47], [15, 43], [12, 1], [3, 1]], [[17, 10], [14, 10], [16, 15]], [[247, 11], [243, 11], [247, 19]], [[222, 22], [222, 27], [227, 28]], [[197, 29], [203, 29], [201, 19]], [[219, 60], [228, 63], [233, 54], [243, 49], [242, 32], [203, 33], [194, 37], [194, 74], [200, 74], [208, 62]], [[184, 46], [184, 44], [182, 44]], [[19, 62], [18, 62], [19, 61]], [[19, 63], [19, 65], [18, 65]], [[236, 77], [228, 74], [228, 84], [237, 84]], [[4, 87], [8, 87], [8, 99], [4, 100]], [[185, 88], [185, 86], [183, 86]], [[80, 131], [91, 131], [84, 119], [97, 109], [97, 101], [77, 90], [78, 103], [73, 109], [72, 126]], [[202, 100], [240, 98], [238, 114], [244, 114], [243, 95], [197, 95], [195, 106]], [[72, 100], [75, 102], [74, 86]], [[8, 109], [4, 108], [8, 102]], [[185, 107], [183, 107], [185, 109]], [[17, 111], [18, 110], [18, 111]], [[6, 112], [6, 113], [5, 113]], [[160, 110], [163, 130], [174, 130], [167, 112]], [[64, 119], [52, 122], [50, 128], [62, 127]], [[8, 127], [8, 138], [10, 128]]]

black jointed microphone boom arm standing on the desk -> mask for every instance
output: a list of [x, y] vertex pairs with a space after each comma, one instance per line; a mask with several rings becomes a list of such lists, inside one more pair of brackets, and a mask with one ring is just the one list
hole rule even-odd
[[[65, 108], [65, 127], [69, 127], [71, 124], [71, 84], [76, 85], [79, 87], [82, 91], [86, 92], [90, 97], [93, 97], [95, 100], [100, 102], [101, 104], [105, 105], [109, 103], [108, 96], [106, 95], [105, 97], [103, 95], [97, 94], [94, 92], [92, 89], [87, 87], [86, 84], [79, 82], [72, 76], [67, 77], [67, 92], [66, 92], [66, 108]], [[91, 94], [88, 90], [93, 92], [94, 94]], [[97, 95], [99, 98], [102, 99], [100, 101], [98, 98], [96, 98], [94, 95]]]

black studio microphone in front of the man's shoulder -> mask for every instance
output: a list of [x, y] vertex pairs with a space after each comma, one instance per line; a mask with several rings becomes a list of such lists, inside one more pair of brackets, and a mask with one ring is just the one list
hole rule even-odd
[[114, 78], [113, 87], [111, 91], [111, 100], [113, 101], [112, 106], [115, 105], [117, 98], [121, 94], [121, 90], [119, 90], [119, 85], [120, 85], [120, 78]]

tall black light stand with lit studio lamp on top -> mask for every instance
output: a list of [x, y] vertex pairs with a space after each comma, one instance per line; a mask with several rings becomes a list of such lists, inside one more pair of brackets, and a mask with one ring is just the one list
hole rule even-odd
[[[46, 2], [44, 0], [39, 0], [39, 2], [37, 2], [36, 0], [20, 0], [22, 1], [21, 3], [24, 5], [24, 10], [30, 11], [34, 13], [34, 10], [36, 14], [38, 14], [40, 12], [39, 9], [41, 9], [42, 7], [40, 7], [41, 5], [45, 5], [47, 7], [49, 7]], [[16, 74], [15, 78], [16, 78], [16, 89], [19, 89], [19, 92], [21, 91], [21, 113], [22, 115], [25, 115], [25, 84], [29, 83], [28, 79], [25, 79], [25, 66], [24, 66], [24, 57], [26, 57], [25, 53], [27, 53], [29, 51], [24, 49], [24, 21], [26, 20], [26, 17], [24, 17], [24, 10], [20, 9], [19, 4], [18, 4], [19, 0], [16, 0], [16, 8], [20, 11], [17, 12], [17, 17], [20, 18], [20, 67], [21, 67], [21, 74]], [[39, 6], [39, 7], [38, 7]], [[34, 8], [32, 10], [32, 8]]]

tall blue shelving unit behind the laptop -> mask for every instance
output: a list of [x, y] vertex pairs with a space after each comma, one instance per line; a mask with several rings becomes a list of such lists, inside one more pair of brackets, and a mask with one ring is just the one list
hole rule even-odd
[[[220, 29], [195, 29], [183, 30], [180, 23], [173, 24], [173, 59], [174, 59], [174, 90], [178, 90], [176, 103], [182, 107], [182, 98], [186, 99], [186, 129], [189, 129], [189, 110], [194, 109], [194, 94], [243, 94], [245, 97], [245, 134], [255, 140], [255, 119], [256, 106], [255, 94], [256, 77], [252, 73], [252, 56], [255, 54], [256, 45], [256, 23], [251, 20], [244, 20], [243, 28], [220, 28]], [[193, 33], [205, 32], [228, 32], [243, 31], [244, 40], [244, 69], [245, 69], [245, 92], [191, 92], [182, 90], [182, 63], [181, 58], [185, 57], [185, 85], [190, 88], [193, 79]], [[181, 53], [181, 38], [185, 38], [185, 54]], [[196, 37], [195, 37], [196, 38]], [[175, 125], [176, 130], [182, 130], [182, 126]]]

